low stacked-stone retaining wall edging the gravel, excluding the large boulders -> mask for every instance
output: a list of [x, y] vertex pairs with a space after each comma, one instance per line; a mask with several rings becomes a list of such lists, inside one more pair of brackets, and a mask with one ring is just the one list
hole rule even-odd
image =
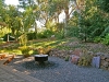
[[[49, 56], [56, 56], [59, 58], [65, 58], [66, 56], [73, 55], [73, 50], [59, 50], [52, 49], [49, 52]], [[94, 56], [100, 56], [100, 68], [105, 70], [109, 70], [109, 55], [105, 55], [104, 52], [96, 52]]]

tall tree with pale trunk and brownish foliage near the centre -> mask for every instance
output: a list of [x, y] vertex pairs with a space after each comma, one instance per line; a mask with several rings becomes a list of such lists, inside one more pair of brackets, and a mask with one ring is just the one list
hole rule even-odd
[[[50, 3], [50, 15], [55, 16], [55, 20], [57, 23], [59, 23], [59, 15], [64, 12], [65, 13], [65, 19], [64, 19], [64, 24], [63, 24], [63, 36], [68, 33], [68, 23], [70, 20], [70, 15], [74, 12], [74, 3], [73, 0], [51, 0]], [[71, 10], [71, 11], [70, 11]], [[58, 25], [58, 24], [57, 24]], [[58, 25], [59, 27], [59, 25]]]

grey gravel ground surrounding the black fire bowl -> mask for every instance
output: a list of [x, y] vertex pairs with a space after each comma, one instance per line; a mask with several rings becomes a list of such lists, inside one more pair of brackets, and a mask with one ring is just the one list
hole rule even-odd
[[45, 65], [38, 65], [33, 57], [15, 58], [8, 66], [44, 82], [109, 82], [109, 71], [78, 67], [57, 57], [49, 57]]

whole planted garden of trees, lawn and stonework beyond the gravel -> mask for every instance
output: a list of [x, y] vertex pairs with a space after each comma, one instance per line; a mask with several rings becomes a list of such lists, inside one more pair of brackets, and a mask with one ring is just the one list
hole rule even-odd
[[[93, 57], [98, 55], [102, 59], [100, 61], [101, 67], [107, 70], [109, 69], [109, 13], [106, 10], [107, 7], [102, 7], [107, 4], [107, 0], [102, 3], [95, 0], [93, 2], [87, 0], [83, 2], [63, 1], [63, 3], [60, 3], [61, 1], [51, 1], [48, 3], [50, 7], [45, 9], [41, 8], [46, 7], [45, 1], [37, 2], [40, 3], [40, 7], [21, 4], [15, 8], [14, 5], [5, 5], [2, 1], [0, 2], [1, 54], [23, 55], [24, 58], [47, 54], [69, 60], [71, 55], [76, 54], [75, 50], [80, 49], [80, 66], [90, 65]], [[60, 10], [64, 10], [64, 14], [68, 15], [63, 22], [60, 22], [60, 17], [52, 17], [55, 13], [58, 13], [58, 3], [61, 7], [64, 3], [70, 3], [72, 8], [74, 5], [78, 8], [74, 8], [75, 12], [71, 11], [71, 13], [73, 12], [72, 16], [71, 13], [68, 13], [69, 9], [60, 7]], [[32, 4], [34, 4], [33, 1]], [[24, 11], [21, 12], [20, 8]], [[65, 8], [68, 8], [68, 4], [65, 4]], [[45, 13], [38, 12], [38, 9]], [[60, 12], [58, 16], [62, 13]], [[47, 17], [48, 15], [49, 17]], [[41, 23], [40, 20], [43, 20], [44, 25], [37, 25], [36, 21]]]

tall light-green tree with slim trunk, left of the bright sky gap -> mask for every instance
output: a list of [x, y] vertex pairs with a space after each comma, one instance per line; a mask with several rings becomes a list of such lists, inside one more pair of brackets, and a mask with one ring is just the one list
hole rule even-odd
[[[39, 15], [40, 15], [40, 9], [39, 5], [36, 3], [35, 0], [19, 0], [20, 5], [19, 8], [24, 9], [25, 14], [27, 13], [26, 11], [28, 11], [31, 9], [31, 13], [29, 13], [29, 19], [32, 19], [34, 24], [32, 25], [32, 27], [35, 28], [35, 33], [36, 33], [36, 37], [37, 37], [37, 23], [36, 21], [39, 20]], [[29, 11], [28, 11], [29, 12]], [[23, 15], [24, 16], [24, 15]], [[26, 17], [26, 16], [25, 16]], [[28, 19], [28, 20], [29, 20]], [[27, 21], [27, 19], [26, 19]]]

